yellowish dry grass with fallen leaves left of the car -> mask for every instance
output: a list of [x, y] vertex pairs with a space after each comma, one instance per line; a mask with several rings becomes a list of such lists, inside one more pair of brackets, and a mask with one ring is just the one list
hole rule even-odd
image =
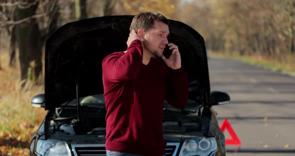
[[0, 59], [0, 155], [29, 155], [30, 139], [46, 113], [32, 107], [30, 100], [44, 87], [30, 81], [21, 87], [19, 62], [9, 67], [8, 52], [3, 49]]

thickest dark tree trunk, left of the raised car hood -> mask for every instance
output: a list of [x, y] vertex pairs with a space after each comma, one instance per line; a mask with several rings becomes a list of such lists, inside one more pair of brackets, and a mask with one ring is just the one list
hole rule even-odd
[[[17, 7], [16, 20], [34, 15], [37, 5], [25, 9]], [[41, 34], [36, 20], [31, 19], [28, 23], [18, 24], [16, 26], [16, 39], [19, 48], [20, 78], [21, 80], [35, 79], [42, 70]]]

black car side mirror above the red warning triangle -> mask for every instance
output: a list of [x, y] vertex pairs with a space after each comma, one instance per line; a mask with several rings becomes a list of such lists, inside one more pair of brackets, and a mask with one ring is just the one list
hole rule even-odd
[[230, 100], [229, 95], [223, 91], [212, 91], [211, 92], [211, 105], [226, 104]]

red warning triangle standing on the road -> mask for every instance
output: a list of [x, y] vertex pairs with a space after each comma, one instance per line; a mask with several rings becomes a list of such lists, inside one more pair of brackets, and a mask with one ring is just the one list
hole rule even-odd
[[236, 136], [236, 134], [235, 134], [234, 130], [232, 129], [232, 127], [231, 127], [229, 121], [227, 120], [227, 118], [224, 118], [224, 120], [223, 120], [223, 122], [222, 122], [222, 124], [220, 126], [220, 129], [222, 130], [222, 132], [224, 132], [224, 130], [227, 129], [228, 133], [231, 136], [231, 139], [225, 138], [225, 145], [238, 145], [238, 146], [241, 145], [240, 140]]

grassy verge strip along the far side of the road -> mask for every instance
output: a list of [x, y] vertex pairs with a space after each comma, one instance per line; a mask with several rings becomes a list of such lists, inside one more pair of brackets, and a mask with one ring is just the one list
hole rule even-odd
[[295, 76], [295, 54], [283, 56], [281, 61], [265, 58], [262, 56], [241, 56], [212, 51], [209, 51], [209, 57], [230, 58]]

